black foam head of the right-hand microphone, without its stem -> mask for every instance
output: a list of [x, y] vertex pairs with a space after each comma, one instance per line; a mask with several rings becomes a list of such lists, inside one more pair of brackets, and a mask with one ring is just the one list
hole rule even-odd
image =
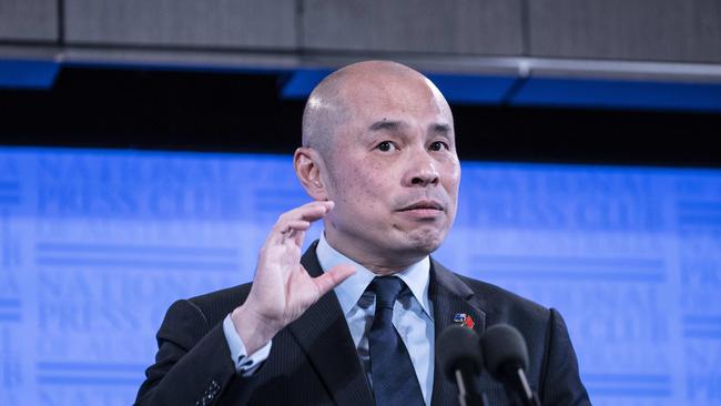
[[508, 324], [488, 327], [480, 338], [480, 346], [486, 362], [486, 369], [496, 379], [504, 379], [507, 374], [518, 368], [528, 369], [528, 348], [518, 329]]

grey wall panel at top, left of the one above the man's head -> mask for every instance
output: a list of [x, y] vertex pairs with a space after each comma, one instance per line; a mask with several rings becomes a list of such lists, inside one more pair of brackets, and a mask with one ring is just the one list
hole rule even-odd
[[287, 0], [67, 0], [68, 42], [293, 48]]

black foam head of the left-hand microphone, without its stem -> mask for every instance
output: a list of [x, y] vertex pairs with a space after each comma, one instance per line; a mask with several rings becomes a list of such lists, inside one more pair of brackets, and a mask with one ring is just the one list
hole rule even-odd
[[478, 334], [468, 327], [455, 325], [440, 334], [436, 342], [436, 359], [448, 379], [455, 382], [456, 369], [480, 374], [484, 362], [479, 345]]

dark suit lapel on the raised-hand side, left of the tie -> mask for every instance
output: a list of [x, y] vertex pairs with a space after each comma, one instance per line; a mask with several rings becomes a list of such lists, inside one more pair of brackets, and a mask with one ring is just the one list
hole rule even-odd
[[[315, 254], [316, 243], [305, 252], [301, 263], [311, 276], [323, 273]], [[334, 292], [323, 296], [288, 326], [317, 371], [328, 393], [338, 405], [373, 405], [358, 353], [348, 324]]]

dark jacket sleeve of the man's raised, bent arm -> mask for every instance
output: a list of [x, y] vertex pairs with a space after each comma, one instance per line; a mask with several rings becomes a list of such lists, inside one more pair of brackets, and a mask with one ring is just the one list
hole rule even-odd
[[212, 405], [235, 378], [223, 323], [210, 325], [194, 303], [173, 303], [156, 337], [155, 364], [145, 371], [136, 405]]

